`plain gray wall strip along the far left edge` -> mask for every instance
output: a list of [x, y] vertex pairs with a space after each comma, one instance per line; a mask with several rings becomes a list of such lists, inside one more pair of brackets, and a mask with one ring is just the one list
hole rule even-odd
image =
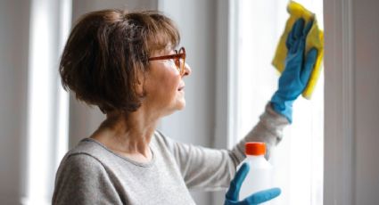
[[26, 147], [29, 1], [0, 1], [0, 204], [18, 204]]

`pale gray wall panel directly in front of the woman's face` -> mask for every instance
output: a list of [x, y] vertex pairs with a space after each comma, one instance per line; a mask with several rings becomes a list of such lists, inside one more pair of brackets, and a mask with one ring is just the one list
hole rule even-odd
[[180, 46], [192, 74], [185, 77], [185, 110], [161, 122], [161, 130], [181, 142], [210, 146], [214, 129], [216, 9], [215, 1], [160, 1], [160, 10], [177, 23]]

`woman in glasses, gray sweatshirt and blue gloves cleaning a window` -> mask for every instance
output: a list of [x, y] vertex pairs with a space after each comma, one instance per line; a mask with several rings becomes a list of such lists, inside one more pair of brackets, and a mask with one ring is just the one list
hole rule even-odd
[[62, 84], [78, 100], [99, 107], [106, 119], [62, 159], [53, 203], [194, 204], [189, 189], [229, 184], [225, 204], [276, 197], [280, 190], [274, 188], [238, 201], [249, 168], [236, 175], [235, 168], [245, 158], [245, 142], [265, 142], [269, 151], [291, 122], [292, 102], [309, 78], [304, 70], [316, 57], [313, 51], [303, 60], [308, 32], [303, 24], [292, 29], [279, 89], [258, 125], [234, 149], [214, 150], [175, 142], [156, 130], [161, 118], [185, 108], [184, 79], [192, 72], [185, 48], [175, 50], [174, 23], [159, 12], [103, 10], [83, 16], [62, 53]]

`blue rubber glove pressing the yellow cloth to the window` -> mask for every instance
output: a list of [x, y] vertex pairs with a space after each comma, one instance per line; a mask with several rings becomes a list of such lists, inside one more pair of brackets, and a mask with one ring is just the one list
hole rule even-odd
[[278, 89], [271, 98], [274, 111], [284, 115], [290, 123], [292, 123], [292, 103], [307, 86], [317, 59], [315, 48], [310, 49], [309, 53], [304, 56], [305, 41], [311, 27], [312, 21], [304, 29], [303, 19], [299, 19], [293, 24], [285, 42], [288, 49], [285, 68], [279, 78]]

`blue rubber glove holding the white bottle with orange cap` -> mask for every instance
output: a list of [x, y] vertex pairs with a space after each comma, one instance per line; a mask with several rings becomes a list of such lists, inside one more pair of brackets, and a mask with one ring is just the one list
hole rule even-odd
[[260, 191], [258, 193], [253, 193], [249, 197], [243, 199], [243, 201], [238, 201], [238, 195], [240, 194], [241, 185], [245, 179], [247, 173], [249, 173], [250, 167], [248, 164], [243, 163], [243, 166], [235, 174], [235, 178], [230, 183], [229, 190], [227, 190], [227, 195], [224, 205], [255, 205], [260, 204], [265, 201], [272, 200], [278, 196], [281, 191], [279, 188], [268, 189]]

